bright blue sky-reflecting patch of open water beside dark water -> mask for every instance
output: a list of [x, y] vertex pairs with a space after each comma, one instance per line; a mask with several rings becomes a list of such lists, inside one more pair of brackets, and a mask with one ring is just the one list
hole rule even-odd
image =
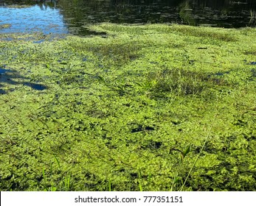
[[34, 4], [27, 7], [0, 7], [0, 24], [10, 24], [0, 32], [68, 33], [60, 10]]

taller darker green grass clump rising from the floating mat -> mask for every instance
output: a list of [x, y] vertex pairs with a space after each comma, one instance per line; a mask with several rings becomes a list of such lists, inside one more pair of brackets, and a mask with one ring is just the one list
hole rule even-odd
[[223, 84], [223, 79], [212, 77], [210, 74], [173, 68], [149, 73], [144, 86], [153, 93], [172, 92], [186, 96], [197, 95], [207, 88]]

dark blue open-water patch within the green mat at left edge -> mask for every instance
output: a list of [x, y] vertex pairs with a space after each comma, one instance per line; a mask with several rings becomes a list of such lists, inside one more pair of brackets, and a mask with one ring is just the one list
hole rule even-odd
[[[15, 85], [16, 87], [4, 89], [4, 85]], [[17, 71], [12, 71], [10, 69], [0, 67], [0, 94], [6, 94], [7, 92], [11, 92], [16, 88], [23, 86], [28, 86], [33, 90], [47, 89], [46, 85], [30, 82], [27, 77], [18, 74]]]

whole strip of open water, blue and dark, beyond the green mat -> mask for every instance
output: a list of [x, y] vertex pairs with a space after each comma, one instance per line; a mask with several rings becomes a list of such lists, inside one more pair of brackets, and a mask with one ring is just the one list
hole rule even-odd
[[256, 0], [0, 0], [0, 32], [89, 35], [89, 24], [256, 26]]

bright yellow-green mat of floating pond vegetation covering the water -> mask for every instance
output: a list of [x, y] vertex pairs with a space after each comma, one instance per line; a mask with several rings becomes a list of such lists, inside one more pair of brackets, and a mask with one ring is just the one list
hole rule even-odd
[[89, 29], [0, 35], [1, 191], [256, 190], [256, 29]]

